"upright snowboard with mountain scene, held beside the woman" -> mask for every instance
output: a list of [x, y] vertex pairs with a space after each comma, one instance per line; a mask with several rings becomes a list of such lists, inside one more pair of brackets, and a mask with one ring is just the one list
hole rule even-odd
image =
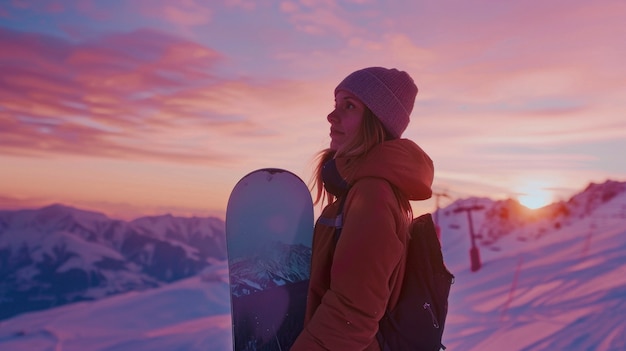
[[259, 169], [233, 188], [226, 247], [234, 351], [289, 350], [303, 329], [313, 203], [295, 174]]

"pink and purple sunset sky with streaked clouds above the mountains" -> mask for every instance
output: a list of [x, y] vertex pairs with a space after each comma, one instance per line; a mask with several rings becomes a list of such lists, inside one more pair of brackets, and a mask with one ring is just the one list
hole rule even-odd
[[447, 196], [418, 211], [567, 200], [626, 180], [625, 17], [622, 0], [4, 0], [0, 208], [224, 218], [255, 169], [309, 182], [335, 86], [369, 66], [419, 88], [404, 137]]

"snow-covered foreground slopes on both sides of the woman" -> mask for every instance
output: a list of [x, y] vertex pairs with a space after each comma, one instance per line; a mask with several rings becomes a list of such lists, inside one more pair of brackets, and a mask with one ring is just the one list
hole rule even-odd
[[[460, 204], [442, 210], [444, 257], [456, 276], [448, 350], [626, 350], [626, 191], [609, 198], [587, 190], [567, 204], [570, 216], [478, 239], [477, 272], [469, 269], [467, 214], [453, 213]], [[472, 213], [476, 233], [493, 226], [487, 212]], [[0, 350], [228, 351], [227, 281], [220, 262], [159, 288], [25, 313], [0, 322]]]

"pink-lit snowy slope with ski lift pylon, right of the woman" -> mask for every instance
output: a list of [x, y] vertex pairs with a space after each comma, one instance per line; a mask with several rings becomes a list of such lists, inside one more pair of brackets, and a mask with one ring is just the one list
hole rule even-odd
[[[544, 214], [498, 240], [478, 240], [483, 266], [474, 273], [466, 214], [441, 216], [444, 256], [456, 274], [448, 349], [626, 350], [625, 185], [592, 185], [561, 204], [567, 215]], [[488, 212], [474, 213], [477, 234], [493, 222]]]

